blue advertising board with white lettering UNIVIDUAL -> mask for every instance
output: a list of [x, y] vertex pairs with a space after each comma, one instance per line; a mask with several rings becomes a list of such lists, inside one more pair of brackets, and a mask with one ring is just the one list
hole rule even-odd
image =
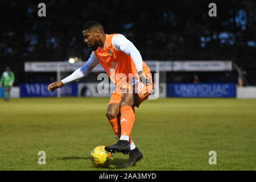
[[168, 97], [236, 97], [235, 84], [168, 84]]

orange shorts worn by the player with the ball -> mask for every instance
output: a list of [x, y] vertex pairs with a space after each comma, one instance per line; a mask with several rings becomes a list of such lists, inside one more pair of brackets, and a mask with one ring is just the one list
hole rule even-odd
[[137, 107], [139, 107], [139, 105], [141, 105], [141, 103], [146, 100], [148, 96], [150, 96], [153, 89], [153, 82], [151, 85], [147, 86], [144, 85], [137, 76], [130, 77], [130, 80], [129, 77], [127, 78], [128, 80], [124, 79], [115, 85], [115, 90], [110, 97], [109, 105], [119, 104], [119, 102], [122, 100], [123, 89], [127, 89], [129, 93], [138, 94], [140, 102], [136, 105]]

